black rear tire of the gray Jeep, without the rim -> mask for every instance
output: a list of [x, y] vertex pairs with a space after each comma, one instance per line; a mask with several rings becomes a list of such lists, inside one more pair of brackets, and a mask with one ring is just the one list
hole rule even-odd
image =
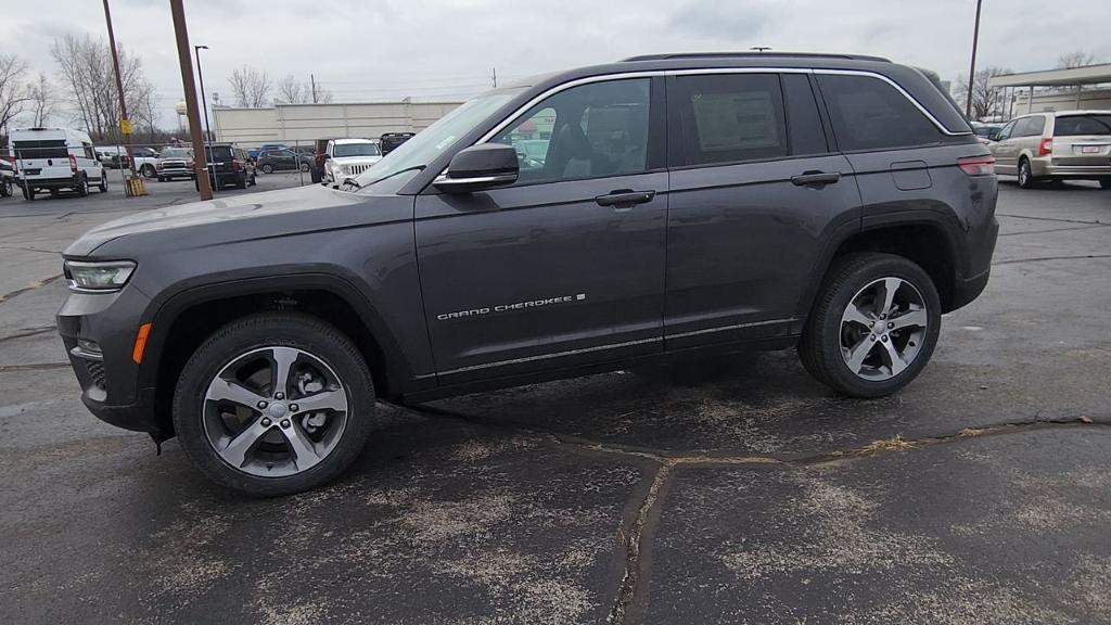
[[[918, 289], [927, 311], [927, 328], [917, 355], [905, 369], [884, 380], [865, 379], [849, 368], [842, 355], [842, 315], [862, 289], [888, 277], [900, 278]], [[921, 267], [891, 254], [850, 254], [835, 259], [827, 272], [803, 328], [798, 353], [807, 371], [834, 390], [850, 397], [882, 397], [903, 388], [925, 368], [940, 330], [938, 289]]]

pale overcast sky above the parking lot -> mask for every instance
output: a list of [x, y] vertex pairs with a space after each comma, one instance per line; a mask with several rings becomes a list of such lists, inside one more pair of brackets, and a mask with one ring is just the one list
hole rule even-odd
[[[138, 52], [173, 123], [181, 99], [168, 0], [111, 0], [117, 40]], [[456, 100], [499, 81], [669, 51], [857, 52], [968, 72], [975, 0], [186, 0], [204, 86], [231, 102], [228, 76], [250, 63], [292, 73], [337, 101]], [[1111, 62], [1111, 1], [984, 0], [979, 66], [1051, 68], [1083, 49]], [[50, 44], [103, 36], [97, 0], [4, 2], [0, 52], [53, 75]], [[59, 120], [66, 121], [66, 120]]]

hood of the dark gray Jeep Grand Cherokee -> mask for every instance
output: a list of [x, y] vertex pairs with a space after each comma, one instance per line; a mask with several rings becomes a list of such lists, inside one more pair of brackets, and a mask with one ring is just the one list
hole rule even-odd
[[[159, 208], [98, 226], [70, 244], [63, 254], [68, 257], [83, 257], [89, 256], [102, 245], [121, 237], [172, 234], [198, 226], [230, 226], [242, 220], [258, 218], [269, 218], [263, 219], [260, 224], [271, 224], [281, 216], [348, 206], [360, 201], [366, 201], [366, 199], [353, 194], [311, 185]], [[273, 228], [280, 228], [280, 226], [274, 224]], [[266, 229], [268, 228], [263, 226], [252, 228], [256, 234], [264, 234], [260, 230]], [[223, 237], [230, 236], [227, 234], [228, 230], [231, 228], [221, 228], [220, 231], [210, 232], [206, 239], [216, 242], [221, 238], [221, 232], [223, 232]]]

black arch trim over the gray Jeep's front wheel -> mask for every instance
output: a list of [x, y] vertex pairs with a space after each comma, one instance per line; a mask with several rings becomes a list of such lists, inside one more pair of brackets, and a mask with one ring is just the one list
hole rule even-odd
[[[181, 315], [189, 309], [219, 299], [281, 292], [290, 290], [323, 290], [340, 297], [359, 316], [369, 334], [378, 343], [386, 364], [388, 385], [398, 391], [429, 386], [414, 375], [404, 353], [392, 331], [379, 315], [373, 304], [360, 289], [358, 279], [340, 275], [338, 268], [328, 266], [278, 266], [264, 270], [199, 276], [183, 280], [164, 289], [151, 299], [140, 323], [151, 323], [150, 336], [142, 365], [139, 368], [140, 389], [154, 388], [158, 383], [162, 349], [169, 338], [169, 330]], [[434, 385], [434, 378], [431, 380]]]

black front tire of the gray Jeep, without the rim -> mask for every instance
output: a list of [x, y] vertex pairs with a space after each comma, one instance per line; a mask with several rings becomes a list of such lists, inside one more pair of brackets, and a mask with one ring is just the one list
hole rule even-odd
[[[347, 389], [347, 425], [323, 459], [286, 477], [259, 477], [227, 464], [209, 443], [202, 423], [202, 401], [209, 384], [233, 359], [267, 346], [294, 347], [320, 358]], [[228, 324], [189, 358], [173, 395], [173, 426], [189, 458], [214, 482], [256, 497], [292, 495], [338, 477], [358, 458], [380, 416], [374, 404], [370, 369], [351, 340], [314, 317], [266, 312]]]

